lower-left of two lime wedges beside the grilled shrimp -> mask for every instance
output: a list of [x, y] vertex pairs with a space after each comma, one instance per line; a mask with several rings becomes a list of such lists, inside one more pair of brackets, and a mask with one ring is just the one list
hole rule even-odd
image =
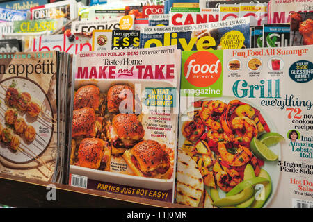
[[255, 154], [261, 160], [275, 161], [278, 159], [278, 155], [273, 153], [265, 144], [259, 141], [256, 137], [253, 137], [250, 143], [250, 148], [253, 154]]

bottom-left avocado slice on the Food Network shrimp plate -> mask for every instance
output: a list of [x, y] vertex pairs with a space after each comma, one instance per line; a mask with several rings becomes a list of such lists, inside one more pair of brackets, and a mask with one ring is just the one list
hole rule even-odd
[[255, 193], [255, 189], [252, 186], [245, 187], [239, 194], [233, 196], [226, 196], [213, 202], [216, 207], [226, 207], [230, 205], [237, 205], [248, 200]]

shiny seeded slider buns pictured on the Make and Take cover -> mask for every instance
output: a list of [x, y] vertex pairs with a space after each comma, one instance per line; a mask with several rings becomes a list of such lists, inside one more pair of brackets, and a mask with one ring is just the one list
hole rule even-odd
[[[142, 123], [145, 117], [120, 113], [122, 102], [126, 103], [122, 107], [126, 110], [141, 109], [134, 87], [127, 82], [106, 85], [101, 91], [95, 85], [77, 89], [72, 126], [73, 165], [147, 178], [172, 178], [173, 151], [166, 144], [145, 139], [149, 138]], [[127, 107], [129, 103], [134, 107]], [[111, 169], [111, 159], [120, 162], [121, 167]]]

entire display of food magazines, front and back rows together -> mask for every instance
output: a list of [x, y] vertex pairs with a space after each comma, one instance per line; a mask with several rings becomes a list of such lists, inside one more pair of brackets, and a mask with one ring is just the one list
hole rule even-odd
[[191, 207], [313, 207], [312, 13], [255, 24], [205, 16], [223, 4], [115, 4], [0, 24], [0, 173]]

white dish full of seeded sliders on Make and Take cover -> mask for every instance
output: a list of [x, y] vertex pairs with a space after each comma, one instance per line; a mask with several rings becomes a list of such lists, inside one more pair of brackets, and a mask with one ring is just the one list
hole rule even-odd
[[[139, 80], [138, 84], [145, 90], [145, 84]], [[137, 92], [135, 85], [136, 80], [76, 81], [70, 173], [122, 185], [172, 189], [175, 142], [150, 137], [149, 114], [142, 112], [143, 91]]]

